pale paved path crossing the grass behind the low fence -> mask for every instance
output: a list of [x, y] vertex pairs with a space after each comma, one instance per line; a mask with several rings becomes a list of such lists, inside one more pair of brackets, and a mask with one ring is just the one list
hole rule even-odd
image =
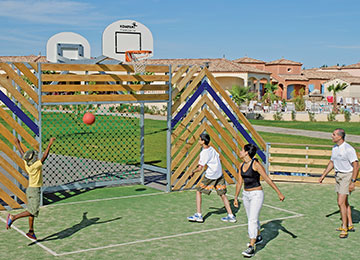
[[[287, 135], [300, 135], [300, 136], [306, 136], [306, 137], [314, 137], [314, 138], [331, 140], [331, 133], [329, 133], [329, 132], [272, 127], [272, 126], [260, 126], [260, 125], [253, 125], [253, 127], [255, 128], [256, 131], [259, 131], [259, 132], [270, 132], [270, 133], [287, 134]], [[360, 143], [360, 135], [348, 135], [347, 134], [345, 139], [346, 139], [346, 141], [349, 141], [349, 142]]]

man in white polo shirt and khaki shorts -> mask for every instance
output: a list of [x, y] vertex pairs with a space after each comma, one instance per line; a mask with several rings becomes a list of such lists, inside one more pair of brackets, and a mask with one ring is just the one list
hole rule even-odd
[[348, 202], [348, 195], [355, 190], [355, 182], [359, 173], [359, 160], [355, 149], [345, 142], [345, 131], [337, 128], [332, 133], [332, 141], [335, 143], [331, 158], [324, 173], [319, 179], [321, 183], [326, 175], [334, 168], [337, 192], [337, 202], [341, 213], [342, 226], [337, 228], [341, 231], [340, 238], [347, 238], [348, 231], [354, 232], [351, 217], [351, 208]]

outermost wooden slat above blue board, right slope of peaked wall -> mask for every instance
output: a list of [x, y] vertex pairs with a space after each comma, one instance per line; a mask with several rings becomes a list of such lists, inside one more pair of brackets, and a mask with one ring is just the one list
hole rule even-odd
[[234, 113], [237, 115], [239, 120], [245, 125], [245, 127], [249, 130], [255, 140], [259, 143], [260, 147], [265, 150], [266, 144], [262, 137], [255, 131], [254, 127], [250, 124], [250, 122], [246, 119], [246, 117], [240, 112], [240, 109], [235, 105], [235, 103], [231, 100], [231, 98], [226, 94], [225, 90], [222, 89], [219, 82], [215, 79], [215, 77], [204, 68], [206, 72], [206, 76], [209, 78], [211, 84], [215, 87], [215, 89], [220, 93], [223, 99], [227, 102], [227, 104], [232, 108]]

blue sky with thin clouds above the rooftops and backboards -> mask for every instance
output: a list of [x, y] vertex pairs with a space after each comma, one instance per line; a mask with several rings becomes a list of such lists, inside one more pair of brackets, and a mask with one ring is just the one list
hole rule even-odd
[[146, 25], [154, 58], [286, 58], [305, 68], [360, 61], [358, 0], [0, 0], [0, 56], [45, 55], [64, 31], [101, 55], [102, 32], [117, 20]]

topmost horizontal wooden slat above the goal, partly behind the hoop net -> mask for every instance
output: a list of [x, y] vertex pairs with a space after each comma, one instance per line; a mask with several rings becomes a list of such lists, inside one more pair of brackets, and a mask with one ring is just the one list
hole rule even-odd
[[[42, 70], [52, 71], [125, 71], [134, 72], [132, 65], [125, 64], [42, 64]], [[146, 65], [147, 72], [166, 73], [168, 66]]]

